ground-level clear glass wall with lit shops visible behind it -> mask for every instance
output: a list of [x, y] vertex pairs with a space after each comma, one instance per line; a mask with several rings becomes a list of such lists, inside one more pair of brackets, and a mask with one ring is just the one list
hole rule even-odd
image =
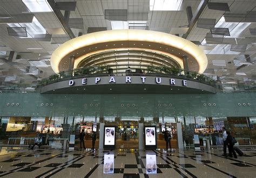
[[[64, 140], [75, 134], [76, 147], [79, 147], [79, 134], [85, 130], [85, 146], [91, 147], [92, 126], [97, 125], [97, 141], [99, 140], [99, 117], [69, 116], [69, 117], [0, 117], [0, 144], [29, 145], [35, 138], [42, 137], [43, 145], [63, 148]], [[209, 139], [212, 146], [223, 145], [222, 127], [232, 132], [238, 145], [256, 144], [256, 117], [114, 117], [102, 118], [105, 125], [117, 126], [117, 148], [125, 148], [132, 145], [138, 147], [138, 124], [157, 127], [158, 147], [165, 148], [165, 140], [162, 125], [172, 134], [173, 148], [177, 147], [177, 122], [181, 123], [184, 146], [191, 148], [193, 135], [199, 134], [201, 146], [205, 146], [204, 140]], [[25, 139], [24, 141], [21, 141]], [[134, 143], [123, 143], [124, 141]], [[60, 143], [60, 144], [58, 144]]]

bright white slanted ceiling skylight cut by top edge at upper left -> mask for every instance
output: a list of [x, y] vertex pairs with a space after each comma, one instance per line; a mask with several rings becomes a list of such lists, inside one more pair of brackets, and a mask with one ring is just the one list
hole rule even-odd
[[22, 0], [30, 12], [52, 12], [47, 0]]

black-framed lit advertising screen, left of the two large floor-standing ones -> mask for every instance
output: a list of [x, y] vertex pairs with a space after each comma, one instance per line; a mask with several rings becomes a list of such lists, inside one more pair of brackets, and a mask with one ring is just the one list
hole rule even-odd
[[116, 127], [104, 127], [104, 148], [114, 148], [116, 144]]

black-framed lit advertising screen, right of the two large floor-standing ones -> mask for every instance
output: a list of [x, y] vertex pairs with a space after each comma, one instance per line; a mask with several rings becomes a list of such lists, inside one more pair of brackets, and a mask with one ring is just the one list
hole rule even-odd
[[156, 126], [145, 127], [145, 148], [154, 149], [157, 146], [156, 140]]

